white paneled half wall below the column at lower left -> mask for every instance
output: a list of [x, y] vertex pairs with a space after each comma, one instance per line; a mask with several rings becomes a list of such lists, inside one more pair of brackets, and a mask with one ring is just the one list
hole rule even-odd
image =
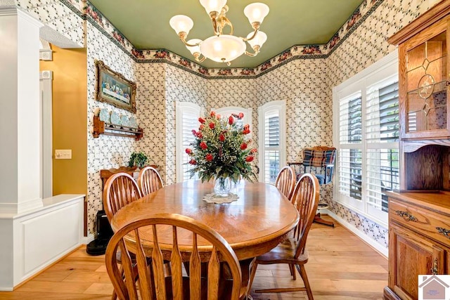
[[0, 291], [77, 249], [83, 241], [85, 195], [57, 195], [22, 214], [0, 214]]

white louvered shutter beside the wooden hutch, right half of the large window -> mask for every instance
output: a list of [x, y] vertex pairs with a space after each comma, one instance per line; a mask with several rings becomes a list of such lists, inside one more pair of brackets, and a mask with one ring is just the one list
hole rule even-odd
[[367, 89], [366, 147], [369, 209], [387, 211], [385, 190], [399, 188], [399, 83], [397, 77]]

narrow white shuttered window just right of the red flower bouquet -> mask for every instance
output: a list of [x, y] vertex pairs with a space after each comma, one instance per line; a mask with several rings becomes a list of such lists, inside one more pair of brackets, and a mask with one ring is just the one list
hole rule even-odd
[[285, 103], [259, 107], [259, 181], [275, 183], [285, 159]]

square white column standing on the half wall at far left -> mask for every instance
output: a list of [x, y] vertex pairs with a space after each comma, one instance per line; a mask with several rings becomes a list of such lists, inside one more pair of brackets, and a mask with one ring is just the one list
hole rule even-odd
[[15, 6], [0, 6], [0, 212], [42, 206], [39, 28]]

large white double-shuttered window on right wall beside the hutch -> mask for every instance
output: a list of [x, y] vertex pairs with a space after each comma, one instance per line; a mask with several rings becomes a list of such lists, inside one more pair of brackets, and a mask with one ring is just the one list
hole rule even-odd
[[335, 199], [387, 224], [385, 190], [399, 188], [397, 51], [333, 89]]

